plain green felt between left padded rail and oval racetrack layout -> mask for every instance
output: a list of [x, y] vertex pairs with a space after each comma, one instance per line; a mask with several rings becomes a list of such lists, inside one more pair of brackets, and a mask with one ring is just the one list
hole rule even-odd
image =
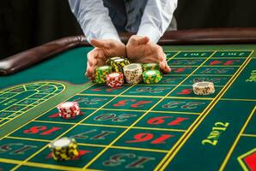
[[88, 82], [84, 76], [87, 53], [91, 48], [76, 48], [40, 62], [12, 76], [0, 77], [0, 88], [41, 80], [68, 81], [72, 84]]

